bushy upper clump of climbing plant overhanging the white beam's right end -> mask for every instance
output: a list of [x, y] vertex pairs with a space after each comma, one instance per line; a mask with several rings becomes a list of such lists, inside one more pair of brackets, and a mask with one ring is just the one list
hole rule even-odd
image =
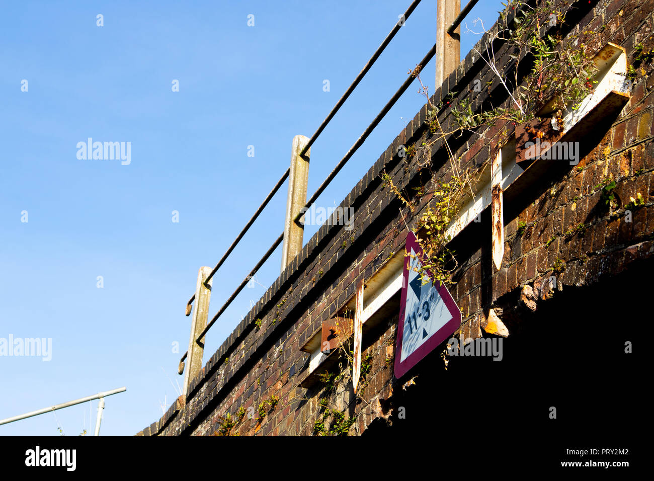
[[[547, 111], [560, 122], [563, 113], [568, 109], [576, 110], [581, 101], [593, 93], [597, 67], [591, 45], [596, 32], [584, 30], [579, 35], [562, 37], [560, 27], [566, 21], [564, 10], [571, 1], [540, 0], [532, 4], [534, 2], [524, 0], [502, 3], [506, 9], [500, 12], [495, 29], [485, 29], [479, 18], [473, 23], [480, 30], [468, 29], [473, 34], [487, 35], [488, 41], [481, 50], [475, 46], [473, 52], [494, 73], [510, 103], [508, 107], [493, 108], [488, 102], [480, 111], [473, 112], [470, 96], [462, 99], [452, 109], [462, 130], [476, 129], [483, 124], [492, 126], [499, 120], [513, 125], [528, 122], [546, 105]], [[543, 31], [547, 33], [543, 35]], [[509, 68], [506, 56], [496, 57], [495, 46], [500, 43], [508, 45]], [[519, 79], [519, 65], [525, 61], [531, 68], [524, 79]], [[478, 81], [477, 88], [480, 84]]]

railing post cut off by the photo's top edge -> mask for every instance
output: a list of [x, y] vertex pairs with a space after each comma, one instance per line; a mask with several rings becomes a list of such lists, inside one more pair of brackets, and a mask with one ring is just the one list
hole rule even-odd
[[[434, 92], [443, 84], [460, 62], [461, 27], [456, 27], [453, 35], [447, 29], [461, 11], [461, 0], [438, 0], [436, 7], [436, 84]], [[432, 92], [432, 93], [434, 93]]]

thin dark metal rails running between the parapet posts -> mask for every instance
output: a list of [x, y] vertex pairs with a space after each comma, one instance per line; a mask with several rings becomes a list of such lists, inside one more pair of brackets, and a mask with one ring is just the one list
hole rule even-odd
[[[458, 25], [462, 22], [462, 20], [470, 12], [472, 7], [474, 7], [477, 4], [478, 1], [479, 0], [470, 0], [468, 2], [468, 5], [466, 5], [466, 7], [464, 7], [464, 9], [461, 10], [460, 14], [456, 17], [455, 21], [447, 29], [447, 33], [449, 33], [451, 35], [455, 31], [456, 27], [458, 27]], [[347, 88], [347, 90], [345, 91], [343, 96], [341, 96], [341, 98], [336, 103], [336, 105], [334, 106], [332, 111], [330, 111], [330, 113], [322, 121], [320, 126], [317, 128], [316, 132], [314, 132], [314, 134], [311, 135], [311, 138], [309, 139], [309, 142], [307, 143], [307, 145], [305, 145], [305, 147], [300, 152], [300, 156], [305, 156], [306, 152], [309, 151], [309, 148], [311, 147], [311, 145], [313, 145], [313, 143], [320, 136], [320, 134], [322, 133], [324, 128], [326, 128], [327, 124], [329, 124], [329, 122], [332, 120], [332, 118], [334, 118], [336, 113], [343, 106], [343, 103], [345, 103], [347, 98], [349, 98], [350, 94], [354, 91], [354, 88], [356, 88], [356, 86], [364, 78], [366, 73], [368, 73], [368, 71], [373, 66], [373, 64], [375, 63], [377, 58], [379, 58], [381, 53], [385, 50], [385, 48], [388, 46], [388, 44], [393, 39], [393, 37], [396, 35], [396, 33], [398, 33], [400, 28], [404, 25], [404, 22], [409, 18], [409, 16], [411, 16], [411, 13], [413, 13], [413, 10], [416, 9], [416, 7], [419, 5], [419, 3], [421, 3], [421, 0], [414, 0], [411, 3], [411, 5], [409, 5], [409, 8], [404, 12], [404, 15], [402, 16], [402, 19], [404, 21], [397, 22], [396, 25], [393, 27], [393, 29], [390, 31], [390, 33], [388, 33], [387, 37], [381, 43], [379, 48], [377, 48], [377, 50], [375, 50], [375, 53], [371, 56], [370, 60], [368, 60], [368, 63], [366, 63], [366, 65], [364, 65], [363, 69], [356, 76], [356, 78], [354, 79], [352, 84], [349, 86], [349, 88]], [[418, 63], [418, 65], [420, 65], [421, 67], [424, 67], [424, 65], [426, 65], [426, 63], [428, 63], [434, 57], [435, 53], [436, 53], [436, 44], [434, 44], [434, 46], [432, 46], [432, 48], [430, 48], [430, 50], [426, 53], [426, 55], [424, 56], [424, 58], [422, 58], [421, 62]], [[379, 112], [379, 114], [377, 114], [377, 116], [375, 116], [373, 121], [366, 128], [366, 130], [364, 130], [364, 132], [360, 135], [360, 137], [356, 140], [356, 142], [354, 142], [354, 145], [349, 149], [349, 151], [347, 151], [347, 154], [345, 154], [345, 156], [343, 156], [343, 158], [341, 158], [341, 160], [338, 162], [338, 164], [336, 164], [336, 167], [326, 177], [326, 179], [322, 182], [320, 187], [318, 187], [318, 189], [314, 192], [314, 194], [307, 201], [305, 206], [302, 209], [300, 209], [300, 213], [298, 213], [298, 215], [296, 215], [296, 217], [293, 219], [294, 223], [298, 223], [300, 221], [300, 218], [303, 215], [302, 213], [304, 211], [306, 211], [307, 209], [309, 209], [309, 207], [311, 207], [311, 205], [313, 205], [313, 203], [317, 200], [318, 196], [320, 196], [320, 194], [322, 194], [322, 192], [328, 187], [328, 185], [330, 185], [331, 181], [334, 179], [334, 177], [336, 177], [337, 173], [339, 173], [339, 171], [343, 168], [343, 166], [345, 166], [345, 164], [347, 164], [348, 160], [350, 160], [350, 158], [354, 155], [354, 153], [364, 143], [366, 138], [368, 138], [368, 136], [375, 129], [375, 127], [379, 124], [379, 122], [381, 122], [381, 120], [388, 113], [388, 111], [390, 111], [390, 109], [393, 107], [393, 105], [396, 103], [396, 101], [398, 101], [400, 96], [402, 96], [402, 94], [404, 94], [404, 92], [407, 90], [407, 88], [409, 88], [411, 83], [413, 83], [413, 80], [414, 80], [413, 77], [409, 76], [404, 81], [402, 86], [400, 86], [398, 91], [395, 92], [395, 94], [388, 101], [388, 103], [385, 105], [385, 107]], [[232, 245], [230, 245], [230, 247], [228, 247], [227, 251], [224, 253], [224, 255], [218, 261], [218, 264], [216, 264], [216, 266], [213, 268], [213, 270], [211, 270], [211, 273], [209, 274], [209, 276], [205, 280], [205, 286], [206, 287], [209, 287], [209, 285], [208, 285], [209, 280], [216, 274], [216, 272], [218, 272], [218, 269], [220, 268], [220, 266], [222, 266], [223, 262], [230, 255], [230, 253], [232, 253], [233, 249], [239, 243], [241, 238], [243, 238], [245, 233], [249, 230], [250, 226], [252, 226], [254, 221], [256, 221], [257, 217], [263, 211], [264, 207], [266, 207], [266, 205], [271, 200], [271, 198], [275, 195], [277, 190], [279, 190], [281, 185], [283, 185], [284, 181], [286, 181], [286, 179], [288, 178], [289, 173], [290, 173], [290, 168], [286, 169], [286, 171], [284, 172], [282, 177], [279, 179], [279, 181], [277, 181], [277, 184], [275, 185], [275, 187], [273, 187], [273, 189], [267, 195], [264, 202], [262, 202], [262, 204], [256, 210], [256, 212], [254, 213], [254, 215], [252, 216], [250, 221], [248, 221], [248, 223], [245, 224], [245, 227], [243, 228], [243, 230], [241, 230], [240, 234], [232, 242]], [[218, 320], [220, 315], [222, 315], [222, 313], [230, 306], [230, 304], [232, 304], [233, 300], [241, 292], [243, 287], [245, 287], [245, 285], [247, 285], [248, 281], [252, 278], [252, 276], [254, 276], [254, 274], [256, 274], [256, 272], [261, 268], [261, 266], [264, 264], [264, 262], [266, 262], [266, 260], [275, 251], [275, 249], [277, 249], [277, 247], [279, 246], [280, 243], [282, 243], [283, 240], [284, 240], [284, 232], [282, 232], [279, 235], [279, 237], [277, 238], [277, 240], [275, 240], [273, 242], [273, 244], [266, 251], [264, 256], [259, 260], [259, 262], [257, 262], [256, 266], [254, 266], [254, 268], [252, 268], [252, 270], [250, 270], [250, 273], [248, 274], [248, 276], [245, 277], [245, 279], [243, 279], [243, 281], [241, 282], [239, 287], [237, 287], [236, 290], [232, 293], [232, 295], [228, 298], [228, 300], [226, 300], [226, 302], [218, 310], [216, 315], [214, 315], [213, 318], [211, 319], [211, 321], [209, 321], [209, 323], [207, 323], [207, 326], [201, 331], [201, 333], [198, 336], [196, 336], [196, 340], [195, 340], [196, 342], [200, 342], [201, 339], [205, 336], [205, 334], [207, 334], [207, 331], [209, 331], [209, 329], [211, 329], [211, 327]], [[196, 297], [196, 294], [193, 294], [191, 296], [191, 298], [188, 300], [187, 304], [186, 304], [186, 315], [187, 316], [190, 315], [190, 313], [191, 313], [192, 303], [193, 303], [195, 297]], [[184, 353], [184, 355], [182, 355], [182, 358], [180, 359], [180, 364], [182, 364], [184, 362], [184, 359], [186, 359], [187, 355], [188, 355], [188, 351], [186, 351], [186, 353]], [[182, 374], [182, 370], [180, 370], [180, 374]]]

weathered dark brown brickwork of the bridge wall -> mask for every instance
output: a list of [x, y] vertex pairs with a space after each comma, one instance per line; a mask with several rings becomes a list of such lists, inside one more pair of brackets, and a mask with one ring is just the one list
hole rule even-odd
[[[568, 18], [574, 22], [565, 27], [564, 33], [597, 31], [593, 41], [596, 50], [607, 42], [616, 43], [627, 50], [628, 62], [632, 63], [637, 45], [642, 44], [645, 51], [654, 48], [654, 0], [584, 0], [570, 8], [574, 10]], [[477, 48], [486, 45], [487, 39], [485, 35]], [[508, 45], [494, 48], [498, 58], [510, 61], [513, 52]], [[490, 308], [503, 313], [502, 319], [511, 330], [529, 311], [556, 298], [566, 286], [593, 285], [652, 257], [652, 73], [651, 63], [639, 65], [630, 101], [619, 117], [614, 122], [611, 119], [613, 123], [604, 130], [598, 127], [594, 138], [589, 135], [579, 139], [583, 157], [577, 166], [566, 163], [565, 168], [553, 168], [538, 185], [507, 197], [510, 200], [504, 206], [505, 250], [500, 270], [495, 270], [490, 261], [489, 209], [483, 213], [481, 223], [470, 224], [453, 241], [459, 268], [451, 293], [463, 313], [457, 333], [461, 339], [485, 335]], [[481, 79], [484, 86], [490, 84], [483, 92], [473, 92], [473, 79]], [[460, 93], [452, 99], [447, 97], [449, 92]], [[431, 99], [434, 105], [444, 104], [439, 114], [443, 130], [456, 126], [449, 102], [456, 103], [466, 96], [470, 96], [473, 109], [489, 101], [498, 105], [500, 99], [500, 105], [508, 106], [509, 101], [504, 87], [482, 60], [473, 59], [473, 52]], [[319, 412], [319, 387], [303, 389], [299, 385], [309, 366], [309, 355], [300, 348], [323, 321], [334, 317], [353, 298], [359, 281], [370, 279], [388, 258], [404, 249], [405, 223], [415, 225], [430, 201], [430, 189], [426, 188], [427, 194], [413, 199], [418, 207], [411, 212], [381, 181], [385, 171], [394, 185], [409, 190], [426, 173], [415, 160], [398, 156], [401, 145], [420, 147], [423, 141], [434, 138], [426, 128], [426, 113], [425, 106], [341, 203], [344, 208], [354, 207], [353, 229], [338, 224], [322, 226], [207, 361], [192, 381], [188, 397], [177, 400], [160, 421], [139, 435], [211, 435], [227, 413], [234, 416], [239, 408], [247, 410], [250, 406], [258, 413], [260, 404], [273, 395], [280, 401], [274, 409], [267, 409], [262, 421], [256, 419], [258, 414], [253, 419], [246, 416], [232, 433], [313, 433]], [[492, 139], [504, 127], [498, 124], [488, 128], [479, 132], [481, 137], [464, 134], [450, 138], [449, 147], [460, 166], [489, 162], [494, 153]], [[442, 141], [432, 148], [431, 159], [432, 169], [447, 180], [451, 176], [450, 161]], [[625, 222], [622, 213], [610, 217], [602, 209], [595, 186], [606, 177], [617, 182], [614, 192], [622, 209], [638, 192], [644, 197], [645, 205], [632, 209], [632, 222]], [[435, 180], [431, 179], [430, 185]], [[570, 233], [581, 223], [585, 232]], [[556, 287], [546, 282], [551, 276], [557, 279]], [[260, 327], [255, 323], [258, 319]], [[372, 356], [362, 393], [364, 402], [357, 402], [347, 390], [339, 397], [338, 408], [347, 408], [348, 415], [356, 418], [350, 429], [352, 435], [364, 433], [375, 419], [387, 419], [394, 392], [406, 381], [394, 378], [392, 363], [387, 361], [393, 355], [391, 344], [397, 323], [397, 315], [388, 317], [375, 338], [364, 339], [364, 356]], [[433, 369], [439, 361], [430, 362], [431, 366], [419, 366], [414, 374]], [[442, 362], [439, 364], [442, 366]]]

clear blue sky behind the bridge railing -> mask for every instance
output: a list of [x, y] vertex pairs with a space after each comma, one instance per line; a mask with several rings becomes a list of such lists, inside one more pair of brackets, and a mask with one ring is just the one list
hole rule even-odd
[[[162, 416], [183, 381], [184, 306], [199, 266], [216, 264], [288, 167], [293, 136], [315, 132], [409, 3], [3, 3], [0, 338], [52, 338], [52, 359], [0, 356], [0, 418], [121, 386], [105, 400], [102, 435], [133, 435]], [[483, 0], [466, 22], [481, 16], [489, 27], [500, 8]], [[313, 145], [309, 194], [434, 44], [435, 28], [436, 1], [424, 0]], [[462, 58], [478, 40], [462, 35]], [[433, 61], [422, 81], [433, 92]], [[415, 116], [418, 88], [318, 207], [338, 205]], [[131, 162], [78, 159], [88, 137], [130, 142]], [[286, 189], [214, 277], [211, 316], [282, 232]], [[307, 225], [305, 241], [317, 228]], [[266, 288], [280, 255], [258, 273]], [[205, 361], [262, 285], [243, 289], [209, 331]], [[92, 431], [96, 407], [3, 425], [0, 435], [56, 436], [58, 423], [66, 435]]]

